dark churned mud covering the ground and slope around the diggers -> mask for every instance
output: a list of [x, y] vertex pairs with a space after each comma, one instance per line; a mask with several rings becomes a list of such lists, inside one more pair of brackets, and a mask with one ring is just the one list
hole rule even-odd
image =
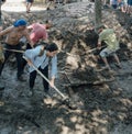
[[[29, 98], [28, 80], [23, 83], [16, 81], [15, 65], [8, 63], [1, 79], [6, 85], [0, 101], [1, 134], [109, 134], [117, 124], [132, 125], [132, 45], [130, 32], [124, 29], [125, 15], [119, 11], [103, 11], [103, 23], [113, 27], [121, 37], [118, 54], [123, 68], [117, 68], [112, 58], [109, 59], [114, 75], [108, 70], [97, 71], [102, 62], [98, 63], [95, 53], [90, 52], [98, 38], [92, 31], [94, 3], [78, 2], [30, 14], [3, 12], [3, 18], [4, 27], [20, 18], [28, 20], [29, 24], [47, 19], [53, 21], [50, 37], [62, 49], [58, 54], [56, 86], [70, 97], [77, 110], [61, 104], [62, 99], [54, 90], [52, 99], [43, 100], [40, 76], [35, 83], [35, 97]], [[29, 78], [28, 72], [25, 77]], [[120, 132], [117, 130], [111, 134]], [[127, 131], [131, 133], [131, 130]]]

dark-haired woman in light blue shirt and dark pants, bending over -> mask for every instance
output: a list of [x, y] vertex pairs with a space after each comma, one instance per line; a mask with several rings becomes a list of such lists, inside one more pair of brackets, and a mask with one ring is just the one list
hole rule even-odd
[[57, 53], [58, 47], [55, 43], [47, 45], [46, 47], [43, 45], [36, 46], [32, 49], [26, 49], [24, 53], [24, 58], [30, 65], [30, 93], [29, 96], [33, 96], [33, 87], [35, 83], [36, 74], [38, 71], [42, 72], [48, 79], [48, 65], [51, 60], [51, 80], [50, 82], [43, 78], [43, 87], [44, 87], [44, 96], [48, 96], [50, 86], [54, 87], [54, 80], [57, 74]]

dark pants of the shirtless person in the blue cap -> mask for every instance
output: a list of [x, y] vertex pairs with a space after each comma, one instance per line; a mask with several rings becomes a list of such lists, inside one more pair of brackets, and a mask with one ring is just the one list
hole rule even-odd
[[[18, 44], [18, 45], [9, 45], [9, 44], [6, 44], [6, 48], [7, 49], [18, 49], [18, 51], [21, 51], [21, 45]], [[6, 62], [8, 60], [9, 56], [14, 53], [15, 54], [15, 58], [16, 58], [16, 66], [18, 66], [18, 78], [22, 75], [23, 72], [23, 69], [22, 69], [22, 53], [16, 53], [16, 52], [10, 52], [10, 51], [6, 51], [4, 52], [4, 63], [0, 64], [0, 75], [2, 72], [2, 69], [3, 69], [3, 66], [6, 64]]]

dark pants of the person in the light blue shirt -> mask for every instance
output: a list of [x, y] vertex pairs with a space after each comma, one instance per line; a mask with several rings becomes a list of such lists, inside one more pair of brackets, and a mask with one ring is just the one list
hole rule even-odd
[[[46, 66], [44, 69], [42, 69], [42, 68], [40, 67], [38, 70], [40, 70], [46, 78], [48, 78], [48, 66]], [[36, 74], [37, 74], [36, 70], [30, 72], [30, 88], [31, 88], [31, 89], [33, 89], [33, 87], [34, 87]], [[48, 85], [48, 82], [47, 82], [44, 78], [43, 78], [43, 87], [44, 87], [44, 91], [45, 91], [45, 92], [48, 91], [50, 85]]]

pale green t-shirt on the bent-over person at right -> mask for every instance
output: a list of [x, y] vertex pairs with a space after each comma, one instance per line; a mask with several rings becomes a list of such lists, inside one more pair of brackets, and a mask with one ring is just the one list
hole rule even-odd
[[108, 48], [116, 51], [119, 48], [119, 42], [117, 40], [116, 33], [112, 29], [106, 29], [99, 34], [99, 41], [105, 42]]

